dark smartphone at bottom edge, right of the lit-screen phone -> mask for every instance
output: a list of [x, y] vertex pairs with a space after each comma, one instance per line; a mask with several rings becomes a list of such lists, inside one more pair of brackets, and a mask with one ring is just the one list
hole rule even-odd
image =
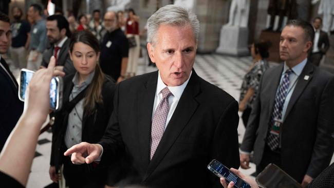
[[275, 164], [268, 164], [255, 178], [258, 185], [266, 188], [302, 188], [302, 185]]

